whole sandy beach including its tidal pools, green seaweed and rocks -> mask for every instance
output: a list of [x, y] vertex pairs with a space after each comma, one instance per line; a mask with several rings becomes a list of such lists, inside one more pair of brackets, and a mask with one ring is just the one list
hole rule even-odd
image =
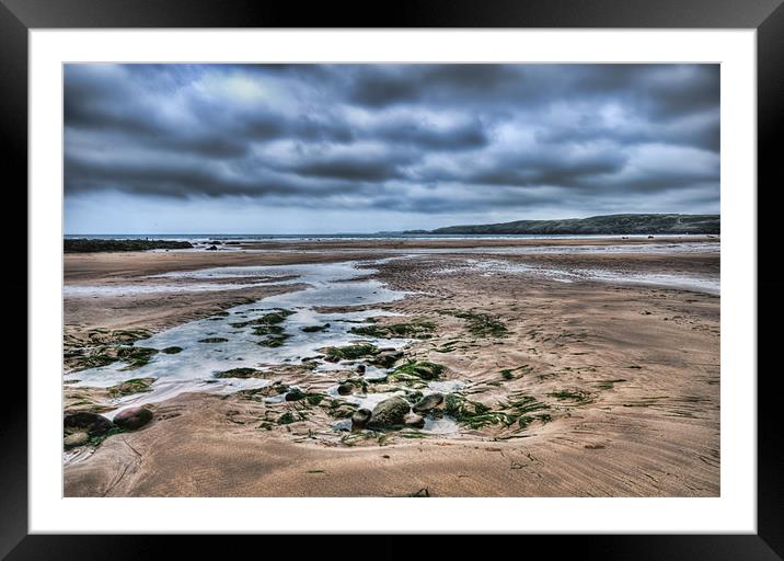
[[718, 496], [718, 277], [699, 236], [66, 254], [66, 413], [152, 421], [68, 446], [65, 494]]

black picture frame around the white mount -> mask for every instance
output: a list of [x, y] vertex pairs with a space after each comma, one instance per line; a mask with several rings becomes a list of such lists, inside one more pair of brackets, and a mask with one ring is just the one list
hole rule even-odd
[[[251, 0], [0, 0], [0, 139], [8, 196], [15, 192], [16, 208], [26, 206], [21, 185], [27, 185], [27, 34], [35, 28], [122, 27], [647, 27], [754, 28], [758, 69], [758, 184], [766, 192], [784, 175], [779, 147], [784, 136], [784, 0], [430, 0], [382, 4], [372, 2], [298, 2]], [[780, 140], [776, 142], [776, 140]], [[13, 185], [13, 188], [12, 188]], [[734, 186], [735, 188], [736, 186]], [[758, 209], [762, 190], [754, 185]], [[769, 195], [768, 195], [769, 196]], [[774, 205], [769, 203], [768, 210]], [[21, 214], [21, 213], [16, 213]], [[26, 213], [25, 213], [26, 216]], [[775, 218], [758, 215], [758, 299], [764, 313], [777, 316], [780, 299], [773, 275], [759, 276], [777, 263]], [[768, 228], [768, 232], [764, 228]], [[19, 231], [14, 229], [14, 231]], [[7, 232], [9, 234], [11, 232]], [[772, 256], [772, 259], [771, 259]], [[24, 278], [26, 279], [26, 276]], [[14, 284], [15, 283], [15, 284]], [[20, 277], [7, 288], [26, 293]], [[28, 295], [30, 297], [30, 295]], [[21, 300], [21, 299], [19, 299]], [[21, 316], [20, 316], [21, 317]], [[775, 329], [758, 330], [758, 350], [774, 347]], [[769, 351], [770, 353], [770, 351]], [[761, 357], [761, 356], [760, 356]], [[784, 559], [784, 460], [782, 421], [776, 391], [779, 370], [759, 363], [758, 387], [758, 533], [754, 535], [639, 535], [530, 536], [526, 551], [537, 542], [556, 546], [560, 553], [603, 559]], [[160, 536], [62, 536], [27, 533], [27, 396], [19, 388], [4, 400], [0, 421], [0, 559], [131, 559], [181, 553], [183, 540], [206, 547], [204, 537], [164, 540]], [[101, 514], [96, 514], [101, 515]], [[336, 537], [330, 537], [332, 541]], [[240, 539], [232, 537], [231, 539]], [[328, 549], [319, 542], [298, 541], [298, 556], [308, 548]], [[384, 557], [410, 551], [411, 543], [378, 538]], [[534, 541], [535, 540], [535, 541]], [[553, 543], [550, 543], [553, 542]], [[237, 547], [237, 546], [233, 546]], [[241, 546], [240, 546], [241, 547]], [[443, 545], [459, 550], [461, 540]], [[494, 546], [495, 547], [495, 546]], [[304, 548], [304, 549], [302, 549]], [[203, 552], [208, 552], [204, 549]], [[261, 553], [260, 553], [261, 554]]]

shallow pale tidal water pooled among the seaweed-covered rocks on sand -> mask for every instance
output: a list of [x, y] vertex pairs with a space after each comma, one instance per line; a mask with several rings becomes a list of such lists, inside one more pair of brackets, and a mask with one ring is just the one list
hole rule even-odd
[[[351, 328], [369, 325], [369, 318], [381, 316], [401, 316], [399, 313], [370, 308], [361, 311], [318, 311], [322, 307], [373, 306], [404, 298], [407, 294], [392, 290], [379, 280], [365, 278], [378, 272], [362, 262], [321, 263], [281, 266], [231, 266], [214, 267], [197, 271], [174, 272], [157, 275], [163, 279], [189, 279], [198, 284], [209, 279], [243, 279], [278, 278], [280, 284], [303, 285], [304, 288], [270, 296], [252, 304], [230, 308], [228, 316], [215, 316], [162, 331], [149, 339], [138, 341], [135, 345], [163, 350], [178, 346], [182, 352], [168, 355], [158, 353], [147, 365], [134, 370], [124, 370], [125, 363], [90, 368], [71, 373], [65, 377], [74, 386], [109, 387], [130, 378], [155, 378], [151, 391], [126, 396], [114, 400], [115, 409], [105, 413], [114, 417], [125, 408], [143, 403], [160, 402], [180, 393], [197, 391], [210, 393], [233, 393], [244, 389], [263, 388], [272, 383], [263, 378], [216, 378], [216, 374], [231, 368], [252, 367], [257, 369], [273, 368], [276, 365], [301, 364], [302, 358], [319, 354], [325, 346], [342, 346], [358, 341], [367, 341], [380, 348], [403, 348], [411, 340], [377, 339], [350, 333]], [[361, 278], [360, 278], [361, 277]], [[252, 284], [252, 283], [251, 283]], [[141, 287], [141, 285], [138, 285]], [[187, 284], [178, 285], [186, 287]], [[88, 286], [82, 287], [89, 291]], [[94, 287], [105, 288], [105, 287]], [[116, 288], [116, 287], [114, 287]], [[103, 293], [102, 293], [103, 294]], [[279, 325], [289, 335], [279, 347], [260, 345], [264, 337], [253, 334], [253, 325], [237, 325], [262, 318], [276, 310], [289, 310], [288, 316]], [[308, 333], [302, 328], [325, 325], [325, 331]], [[224, 341], [217, 343], [203, 342], [215, 337]], [[314, 380], [330, 375], [335, 370], [353, 368], [353, 362], [341, 363], [319, 362], [318, 367], [308, 376]], [[367, 365], [364, 377], [370, 381], [384, 378], [393, 368], [378, 368]], [[435, 391], [457, 391], [463, 383], [457, 380], [434, 381], [423, 393]], [[326, 393], [335, 399], [354, 403], [360, 408], [372, 410], [378, 403], [392, 396], [403, 396], [404, 391], [355, 393], [339, 396], [337, 385], [330, 387]], [[285, 394], [267, 398], [269, 402], [280, 402]], [[343, 425], [346, 425], [343, 422]], [[350, 430], [339, 423], [335, 430]], [[449, 434], [458, 431], [453, 420], [443, 419], [438, 423], [423, 428], [424, 432]]]

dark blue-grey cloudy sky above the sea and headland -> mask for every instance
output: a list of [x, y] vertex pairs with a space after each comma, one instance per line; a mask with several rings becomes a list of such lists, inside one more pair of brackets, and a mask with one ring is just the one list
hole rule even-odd
[[67, 65], [67, 233], [718, 213], [716, 65]]

